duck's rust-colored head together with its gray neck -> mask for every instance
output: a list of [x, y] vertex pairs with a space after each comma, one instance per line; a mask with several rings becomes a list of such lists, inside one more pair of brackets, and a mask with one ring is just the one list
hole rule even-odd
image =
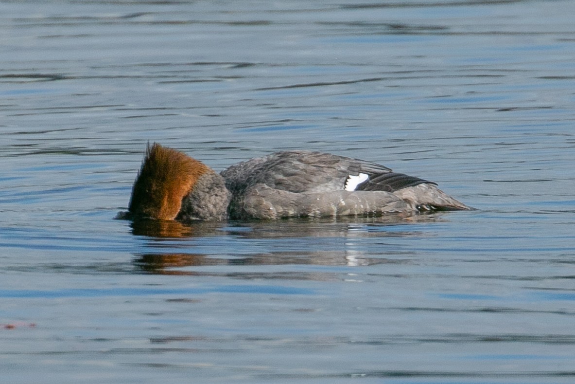
[[129, 214], [162, 220], [223, 220], [229, 192], [204, 163], [154, 143], [145, 152], [132, 188]]

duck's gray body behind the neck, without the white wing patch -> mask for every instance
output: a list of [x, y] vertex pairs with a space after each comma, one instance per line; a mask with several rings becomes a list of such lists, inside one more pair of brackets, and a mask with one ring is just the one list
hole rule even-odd
[[[346, 191], [347, 178], [361, 173], [369, 179]], [[232, 165], [221, 176], [232, 195], [230, 219], [471, 209], [430, 181], [327, 153], [278, 152]]]

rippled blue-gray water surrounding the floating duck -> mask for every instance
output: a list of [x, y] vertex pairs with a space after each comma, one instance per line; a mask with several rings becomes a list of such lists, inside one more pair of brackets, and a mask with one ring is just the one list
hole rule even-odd
[[[0, 378], [570, 383], [575, 3], [0, 2]], [[148, 141], [473, 212], [136, 226]]]

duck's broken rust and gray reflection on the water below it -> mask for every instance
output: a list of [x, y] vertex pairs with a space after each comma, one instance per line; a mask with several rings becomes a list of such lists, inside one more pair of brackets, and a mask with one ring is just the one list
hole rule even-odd
[[[365, 267], [374, 264], [412, 263], [413, 254], [391, 245], [386, 248], [386, 239], [394, 237], [420, 236], [419, 230], [407, 225], [419, 222], [438, 221], [439, 216], [417, 215], [411, 218], [365, 218], [358, 220], [254, 220], [226, 223], [193, 222], [182, 223], [175, 220], [137, 220], [132, 223], [132, 232], [150, 238], [150, 253], [136, 254], [133, 264], [144, 273], [162, 275], [225, 276], [237, 279], [340, 279], [340, 272], [305, 271], [282, 267], [260, 269], [263, 265], [329, 265]], [[393, 230], [389, 230], [394, 226]], [[405, 228], [405, 230], [404, 230]], [[317, 237], [321, 241], [305, 241]], [[377, 254], [365, 246], [365, 238], [377, 238]], [[162, 252], [156, 241], [164, 238], [190, 238], [192, 242], [178, 240], [162, 243], [178, 252]], [[282, 239], [300, 238], [299, 249], [290, 249], [289, 242]], [[203, 254], [193, 252], [199, 244], [217, 241], [225, 246], [224, 254]], [[259, 240], [277, 239], [279, 250], [261, 252], [261, 247], [251, 248], [237, 239]], [[228, 244], [229, 243], [229, 244]], [[212, 244], [212, 243], [209, 243]], [[280, 245], [282, 244], [282, 245]], [[303, 245], [302, 245], [303, 244]], [[341, 244], [341, 247], [334, 246]], [[229, 248], [228, 248], [229, 246]], [[235, 247], [241, 246], [241, 252]], [[273, 249], [272, 248], [272, 249]], [[197, 249], [197, 248], [196, 248]], [[217, 248], [214, 248], [214, 250]], [[219, 248], [221, 249], [221, 248]], [[257, 252], [250, 252], [250, 249]], [[237, 249], [239, 250], [239, 249]], [[191, 252], [188, 252], [191, 251]], [[372, 252], [372, 253], [370, 253]], [[386, 255], [389, 255], [386, 257]], [[251, 268], [229, 268], [251, 267]], [[211, 267], [211, 268], [204, 268]]]

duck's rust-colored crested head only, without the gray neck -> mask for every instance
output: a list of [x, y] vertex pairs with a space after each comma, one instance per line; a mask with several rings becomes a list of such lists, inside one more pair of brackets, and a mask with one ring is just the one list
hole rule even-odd
[[173, 220], [182, 199], [209, 167], [175, 149], [148, 144], [132, 188], [129, 212], [135, 216]]

